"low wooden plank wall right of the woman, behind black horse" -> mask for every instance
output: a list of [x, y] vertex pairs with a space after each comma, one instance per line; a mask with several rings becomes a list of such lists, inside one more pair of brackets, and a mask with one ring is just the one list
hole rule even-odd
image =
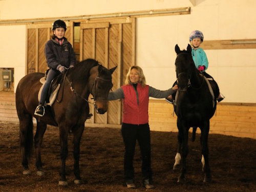
[[[150, 100], [148, 114], [151, 130], [178, 131], [173, 105], [163, 100]], [[200, 129], [197, 133], [201, 133]], [[217, 104], [216, 113], [210, 119], [209, 133], [256, 139], [256, 105]]]

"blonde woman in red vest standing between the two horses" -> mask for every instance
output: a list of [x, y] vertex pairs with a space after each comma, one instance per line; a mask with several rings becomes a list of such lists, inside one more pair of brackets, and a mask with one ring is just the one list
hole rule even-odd
[[151, 138], [148, 125], [149, 97], [166, 98], [174, 93], [178, 86], [161, 91], [146, 85], [145, 76], [139, 66], [132, 66], [126, 75], [125, 85], [110, 92], [109, 100], [122, 99], [123, 116], [121, 133], [125, 146], [124, 177], [127, 188], [135, 188], [133, 158], [138, 140], [142, 157], [143, 186], [154, 188], [151, 169]]

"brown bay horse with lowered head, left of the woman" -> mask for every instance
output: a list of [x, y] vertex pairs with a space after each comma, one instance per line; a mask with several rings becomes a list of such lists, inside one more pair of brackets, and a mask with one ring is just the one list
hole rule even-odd
[[[117, 67], [117, 66], [116, 66]], [[42, 137], [47, 125], [57, 126], [60, 137], [61, 169], [59, 185], [67, 185], [66, 158], [68, 155], [68, 134], [73, 134], [74, 174], [76, 184], [81, 183], [79, 170], [80, 139], [84, 130], [84, 122], [89, 116], [88, 97], [91, 93], [94, 97], [96, 112], [103, 114], [108, 108], [108, 94], [112, 88], [112, 73], [116, 69], [107, 69], [94, 59], [87, 59], [77, 63], [69, 69], [66, 79], [63, 80], [57, 100], [46, 107], [42, 117], [34, 115], [38, 105], [38, 91], [41, 87], [42, 73], [33, 73], [22, 78], [16, 89], [16, 109], [19, 118], [20, 148], [22, 151], [23, 174], [30, 174], [28, 158], [33, 148], [33, 122], [36, 118], [36, 133], [34, 147], [36, 155], [37, 175], [44, 175], [41, 162]], [[60, 87], [61, 87], [60, 86]]]

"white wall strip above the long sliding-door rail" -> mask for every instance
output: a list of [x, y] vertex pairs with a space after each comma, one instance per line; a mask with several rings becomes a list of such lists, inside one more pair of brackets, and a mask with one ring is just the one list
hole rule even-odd
[[2, 0], [0, 19], [65, 17], [187, 6], [191, 6], [189, 0]]

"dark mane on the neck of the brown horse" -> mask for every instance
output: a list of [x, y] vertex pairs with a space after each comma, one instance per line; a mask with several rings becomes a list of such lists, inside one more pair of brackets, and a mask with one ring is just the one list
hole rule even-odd
[[75, 65], [70, 71], [71, 81], [87, 81], [90, 76], [90, 69], [99, 65], [98, 61], [94, 59], [86, 59]]

